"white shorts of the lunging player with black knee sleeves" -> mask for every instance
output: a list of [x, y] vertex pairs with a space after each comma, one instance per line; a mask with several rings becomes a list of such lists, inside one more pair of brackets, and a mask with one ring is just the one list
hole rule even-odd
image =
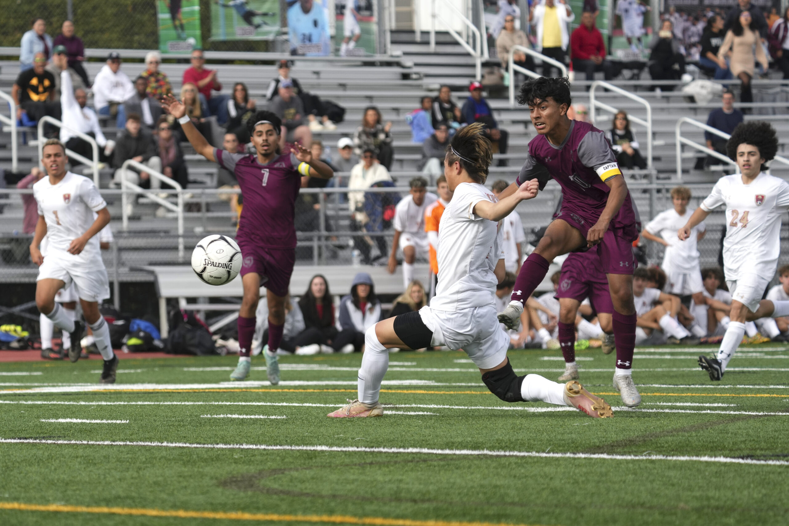
[[510, 337], [499, 325], [493, 304], [454, 312], [436, 311], [425, 305], [419, 315], [433, 332], [431, 345], [463, 349], [481, 369], [491, 369], [507, 357]]

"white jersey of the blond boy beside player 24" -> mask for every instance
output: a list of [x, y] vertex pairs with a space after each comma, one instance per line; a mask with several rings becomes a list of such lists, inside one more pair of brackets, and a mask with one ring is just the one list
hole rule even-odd
[[663, 256], [663, 270], [666, 274], [672, 272], [690, 273], [700, 272], [698, 263], [698, 234], [707, 227], [702, 221], [690, 231], [690, 237], [679, 241], [677, 231], [686, 225], [693, 211], [688, 209], [684, 215], [679, 215], [673, 208], [660, 212], [650, 221], [645, 230], [655, 236], [662, 237], [667, 243]]

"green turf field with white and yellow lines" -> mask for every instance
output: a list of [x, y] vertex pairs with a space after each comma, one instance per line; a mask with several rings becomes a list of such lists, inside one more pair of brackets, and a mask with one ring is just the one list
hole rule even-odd
[[338, 420], [358, 354], [282, 358], [276, 387], [260, 357], [243, 383], [230, 356], [122, 360], [112, 390], [100, 360], [4, 363], [0, 524], [787, 524], [787, 351], [741, 348], [713, 384], [698, 349], [637, 349], [636, 411], [617, 410], [614, 355], [578, 352], [606, 420], [507, 405], [454, 352], [392, 354], [389, 414]]

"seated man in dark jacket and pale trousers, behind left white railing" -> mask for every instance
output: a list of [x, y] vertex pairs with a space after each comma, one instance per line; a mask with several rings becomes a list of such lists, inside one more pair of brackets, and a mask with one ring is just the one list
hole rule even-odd
[[118, 144], [112, 156], [112, 167], [115, 169], [113, 181], [120, 185], [122, 177], [135, 185], [144, 185], [148, 188], [159, 188], [159, 181], [150, 181], [148, 172], [137, 173], [136, 168], [123, 170], [123, 163], [129, 159], [141, 162], [151, 170], [161, 173], [162, 159], [156, 155], [156, 145], [148, 129], [142, 127], [142, 118], [139, 114], [126, 116], [126, 129], [118, 136]]

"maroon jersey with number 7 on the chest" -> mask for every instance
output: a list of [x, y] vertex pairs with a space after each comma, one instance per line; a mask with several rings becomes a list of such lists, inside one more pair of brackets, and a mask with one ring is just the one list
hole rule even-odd
[[260, 164], [256, 155], [215, 148], [214, 157], [219, 166], [235, 174], [244, 196], [239, 241], [252, 241], [263, 248], [296, 248], [294, 215], [301, 188], [296, 156], [279, 155], [268, 164]]

